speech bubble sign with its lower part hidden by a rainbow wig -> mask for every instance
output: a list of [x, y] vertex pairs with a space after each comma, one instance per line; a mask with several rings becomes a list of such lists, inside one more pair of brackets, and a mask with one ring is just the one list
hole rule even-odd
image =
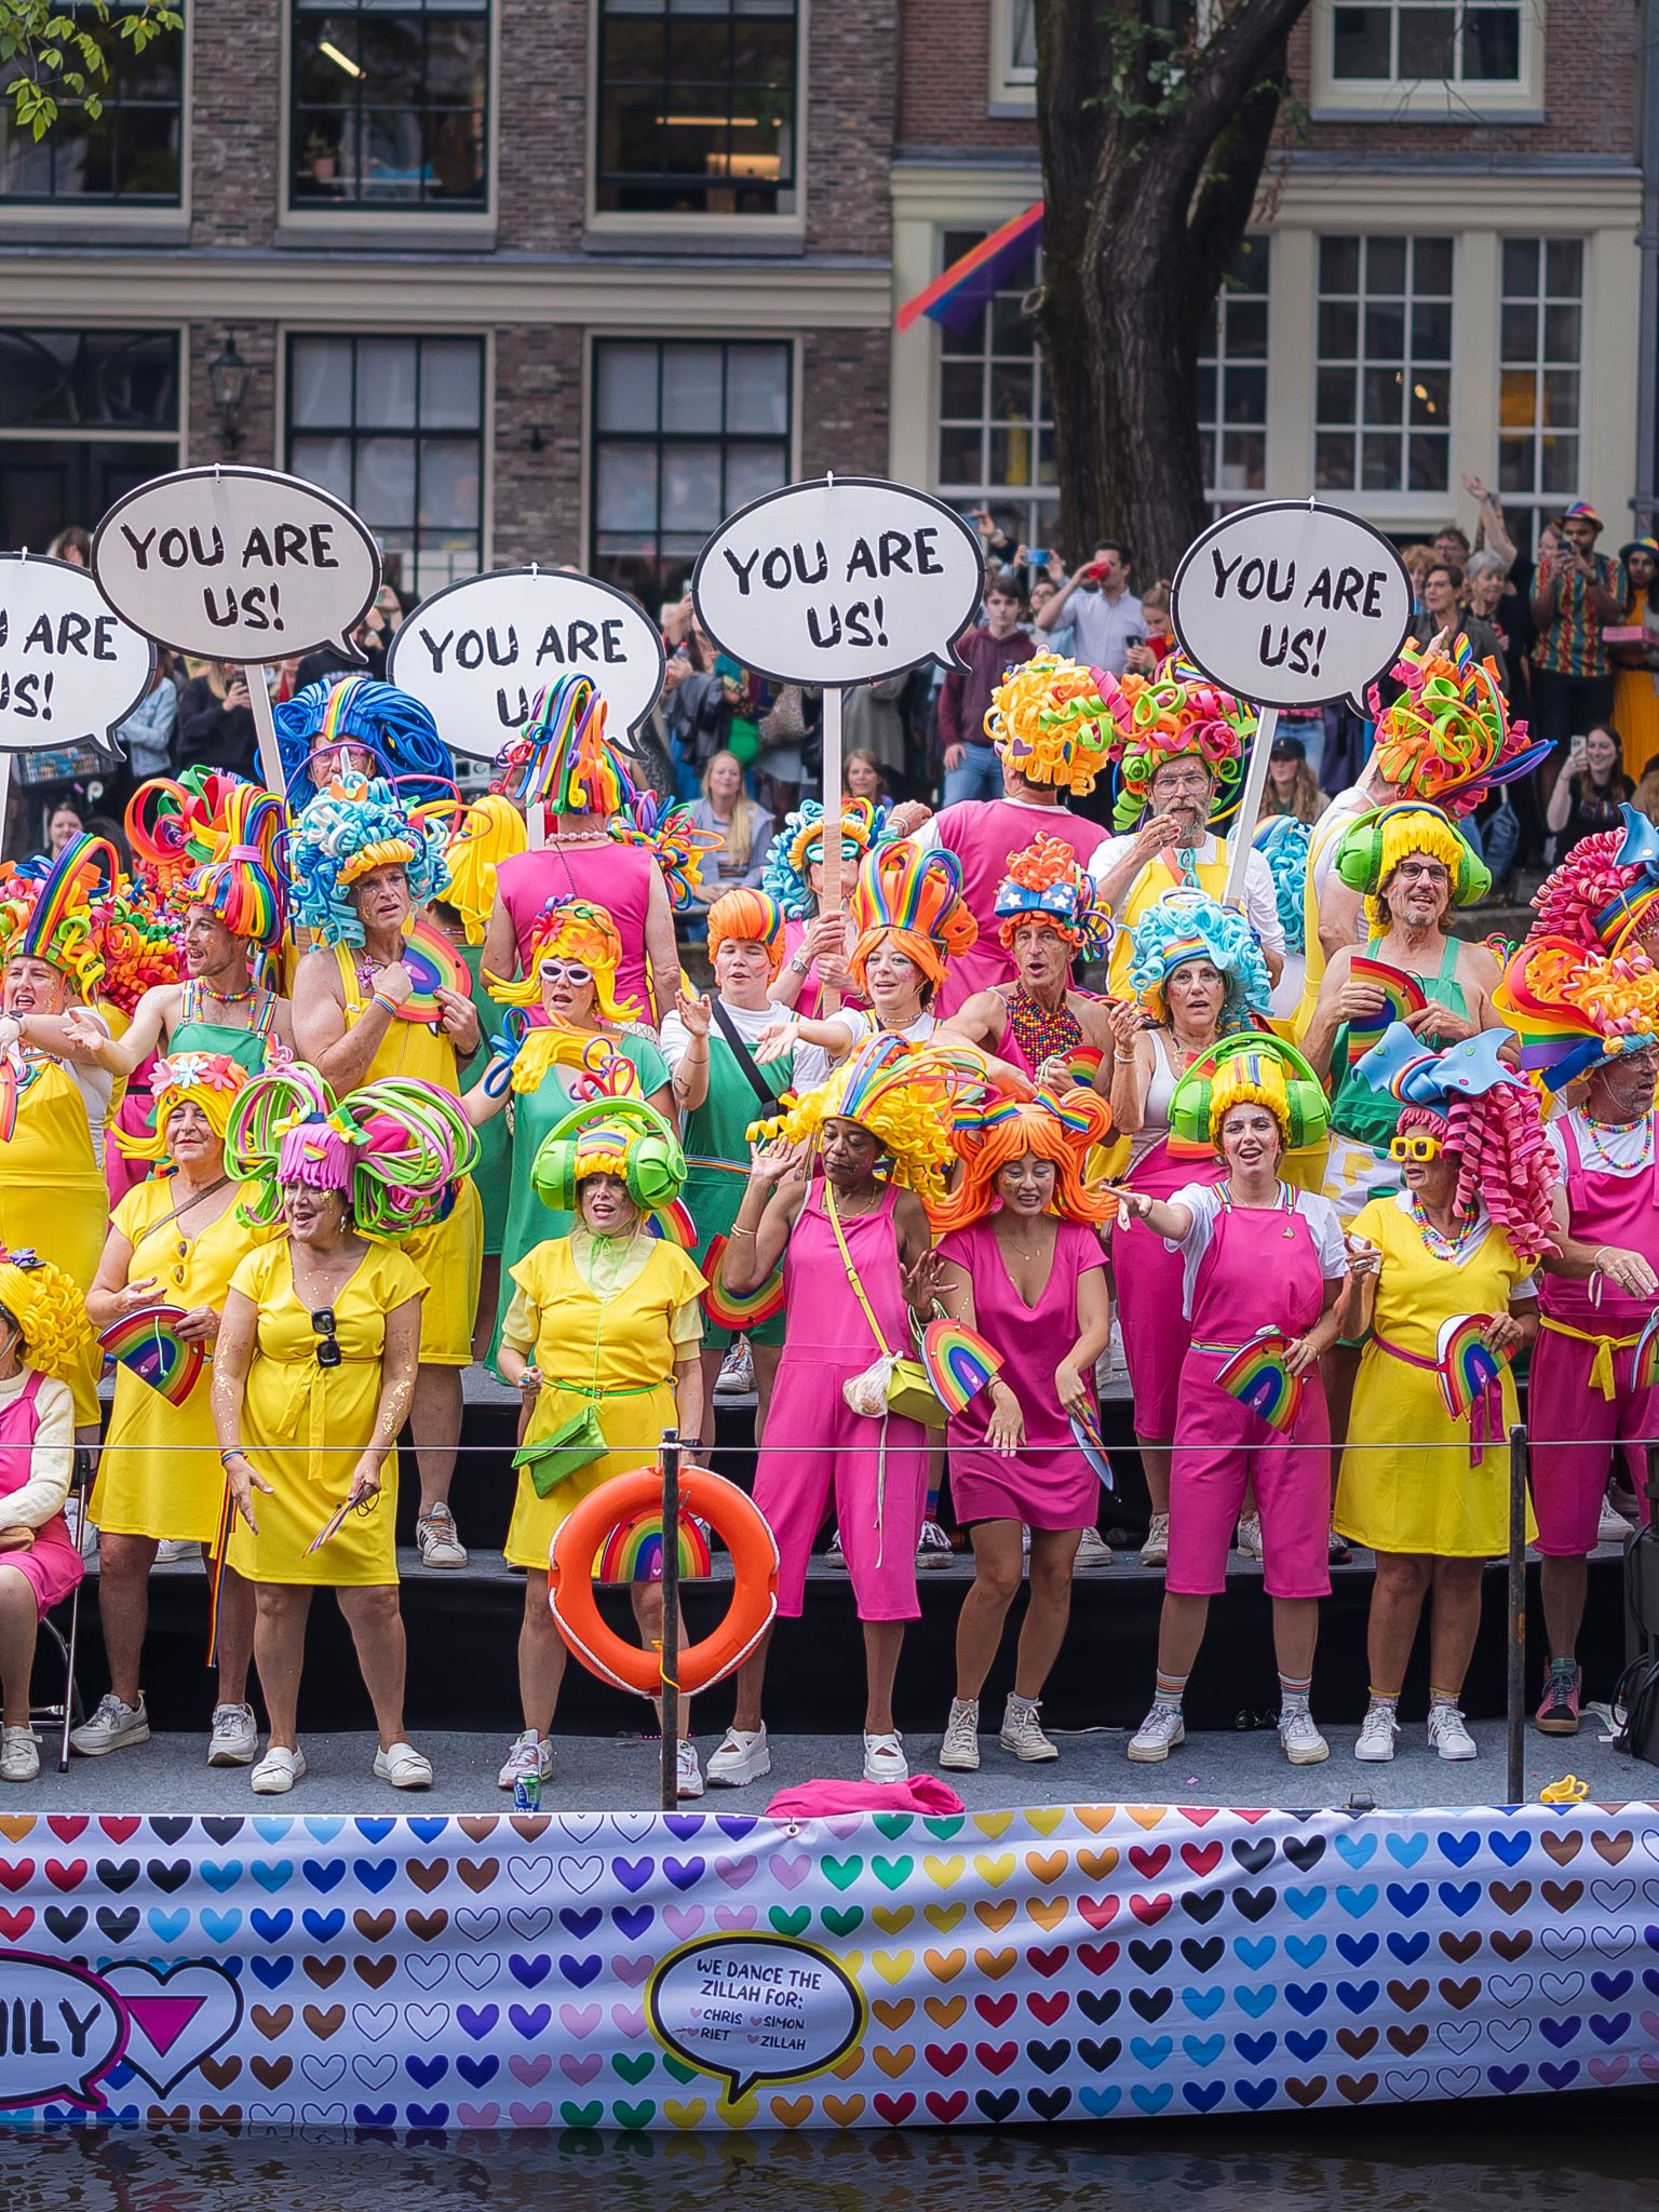
[[445, 743], [493, 761], [544, 684], [593, 677], [611, 730], [661, 699], [664, 650], [637, 599], [593, 575], [500, 568], [422, 599], [392, 639], [387, 681], [431, 708]]

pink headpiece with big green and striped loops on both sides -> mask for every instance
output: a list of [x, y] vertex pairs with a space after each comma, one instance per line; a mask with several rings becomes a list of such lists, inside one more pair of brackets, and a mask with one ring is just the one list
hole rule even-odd
[[442, 1221], [476, 1161], [471, 1124], [436, 1084], [389, 1075], [336, 1102], [303, 1060], [254, 1075], [226, 1126], [246, 1221], [276, 1221], [281, 1186], [303, 1183], [343, 1190], [361, 1234], [383, 1243]]

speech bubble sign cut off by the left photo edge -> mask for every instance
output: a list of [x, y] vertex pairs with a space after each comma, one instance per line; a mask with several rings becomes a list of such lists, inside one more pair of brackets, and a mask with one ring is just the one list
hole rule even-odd
[[91, 739], [115, 757], [111, 732], [153, 672], [155, 646], [111, 613], [86, 568], [0, 553], [0, 750]]

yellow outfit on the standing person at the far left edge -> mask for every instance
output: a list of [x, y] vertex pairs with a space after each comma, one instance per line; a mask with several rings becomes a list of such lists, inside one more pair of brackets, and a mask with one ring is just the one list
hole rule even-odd
[[[75, 1077], [55, 1060], [27, 1060], [18, 1121], [0, 1144], [0, 1243], [38, 1252], [91, 1290], [104, 1256], [108, 1183], [93, 1150], [93, 1128]], [[75, 1427], [97, 1427], [97, 1345], [64, 1376]]]

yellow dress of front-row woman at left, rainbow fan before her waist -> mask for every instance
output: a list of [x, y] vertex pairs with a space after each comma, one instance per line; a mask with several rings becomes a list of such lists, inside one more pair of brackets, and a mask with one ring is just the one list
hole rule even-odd
[[[248, 1228], [230, 1206], [195, 1237], [186, 1237], [173, 1208], [177, 1183], [161, 1177], [137, 1183], [111, 1214], [133, 1245], [128, 1281], [155, 1276], [153, 1298], [166, 1305], [226, 1310], [226, 1292], [241, 1261], [276, 1230]], [[184, 1405], [139, 1383], [131, 1367], [115, 1369], [115, 1407], [97, 1460], [91, 1515], [111, 1535], [181, 1537], [212, 1546], [226, 1478], [212, 1431], [212, 1365], [197, 1376]]]

